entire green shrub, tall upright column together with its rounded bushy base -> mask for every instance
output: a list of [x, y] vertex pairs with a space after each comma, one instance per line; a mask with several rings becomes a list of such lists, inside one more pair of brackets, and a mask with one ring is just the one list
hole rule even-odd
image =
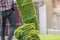
[[40, 40], [36, 9], [32, 0], [16, 0], [23, 25], [14, 31], [18, 40]]

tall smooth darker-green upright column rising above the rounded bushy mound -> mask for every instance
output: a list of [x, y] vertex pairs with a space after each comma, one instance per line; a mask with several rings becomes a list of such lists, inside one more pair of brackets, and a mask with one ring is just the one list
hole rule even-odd
[[38, 29], [38, 19], [36, 15], [36, 9], [32, 0], [16, 0], [22, 22], [25, 24], [34, 23], [35, 29]]

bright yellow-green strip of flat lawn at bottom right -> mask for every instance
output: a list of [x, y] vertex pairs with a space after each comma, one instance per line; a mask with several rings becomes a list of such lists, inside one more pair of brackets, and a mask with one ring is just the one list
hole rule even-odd
[[40, 35], [41, 40], [60, 40], [60, 35], [55, 34], [46, 34], [46, 35]]

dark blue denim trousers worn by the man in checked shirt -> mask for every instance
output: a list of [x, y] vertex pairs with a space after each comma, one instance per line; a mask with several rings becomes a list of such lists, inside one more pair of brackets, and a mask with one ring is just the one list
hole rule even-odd
[[2, 11], [2, 31], [1, 31], [1, 40], [5, 40], [5, 26], [6, 26], [6, 19], [8, 18], [10, 23], [9, 33], [8, 33], [8, 39], [12, 40], [12, 36], [14, 34], [14, 30], [16, 28], [16, 21], [14, 16], [14, 11], [12, 9]]

